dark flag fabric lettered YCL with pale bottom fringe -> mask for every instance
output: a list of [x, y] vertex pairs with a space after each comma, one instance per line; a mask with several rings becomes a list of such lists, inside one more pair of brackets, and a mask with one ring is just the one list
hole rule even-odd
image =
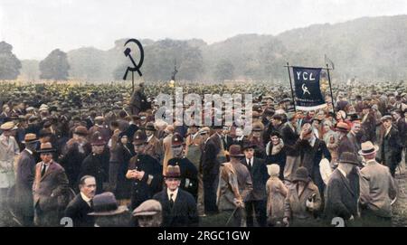
[[296, 108], [314, 110], [327, 107], [319, 78], [321, 68], [293, 67]]

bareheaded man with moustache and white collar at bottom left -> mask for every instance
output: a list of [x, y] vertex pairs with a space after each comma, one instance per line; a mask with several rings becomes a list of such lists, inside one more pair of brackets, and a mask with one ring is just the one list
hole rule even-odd
[[68, 204], [65, 217], [73, 221], [74, 227], [93, 227], [95, 220], [88, 213], [93, 212], [92, 199], [96, 193], [96, 179], [90, 175], [80, 178], [80, 193]]

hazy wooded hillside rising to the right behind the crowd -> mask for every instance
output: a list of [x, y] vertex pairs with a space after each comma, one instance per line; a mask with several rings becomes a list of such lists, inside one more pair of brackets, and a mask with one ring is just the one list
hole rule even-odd
[[[130, 65], [119, 39], [108, 51], [92, 47], [68, 52], [70, 77], [121, 80]], [[336, 80], [407, 79], [407, 15], [364, 17], [341, 24], [315, 24], [277, 36], [240, 34], [208, 45], [203, 40], [144, 39], [146, 80], [169, 80], [176, 60], [178, 80], [287, 80], [293, 65], [324, 66], [334, 61]], [[133, 54], [138, 61], [137, 49]], [[23, 62], [23, 68], [30, 63]], [[35, 77], [35, 64], [22, 77]]]

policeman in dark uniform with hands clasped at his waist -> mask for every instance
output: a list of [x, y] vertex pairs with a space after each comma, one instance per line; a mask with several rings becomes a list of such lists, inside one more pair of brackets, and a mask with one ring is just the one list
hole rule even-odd
[[128, 163], [126, 177], [132, 181], [131, 209], [134, 210], [139, 204], [162, 189], [162, 166], [156, 158], [145, 153], [147, 137], [138, 130], [133, 139], [136, 155]]

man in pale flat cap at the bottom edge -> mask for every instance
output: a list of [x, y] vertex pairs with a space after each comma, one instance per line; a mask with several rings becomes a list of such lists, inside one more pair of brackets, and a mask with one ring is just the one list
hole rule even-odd
[[154, 199], [141, 203], [134, 211], [138, 227], [160, 227], [163, 222], [161, 203]]

